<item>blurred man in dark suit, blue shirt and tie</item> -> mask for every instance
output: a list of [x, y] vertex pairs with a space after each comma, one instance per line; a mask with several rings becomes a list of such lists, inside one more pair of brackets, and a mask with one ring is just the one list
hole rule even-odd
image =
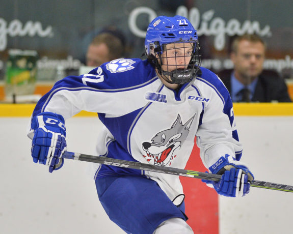
[[257, 35], [243, 35], [232, 42], [234, 70], [218, 73], [233, 102], [291, 102], [285, 81], [272, 70], [263, 70], [265, 43]]

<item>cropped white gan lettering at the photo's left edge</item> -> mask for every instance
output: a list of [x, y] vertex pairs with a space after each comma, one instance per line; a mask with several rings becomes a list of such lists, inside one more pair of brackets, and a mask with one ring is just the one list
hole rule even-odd
[[49, 25], [43, 29], [39, 21], [22, 23], [20, 20], [14, 19], [8, 23], [5, 19], [0, 18], [0, 51], [6, 49], [8, 37], [51, 37], [52, 35], [52, 26]]

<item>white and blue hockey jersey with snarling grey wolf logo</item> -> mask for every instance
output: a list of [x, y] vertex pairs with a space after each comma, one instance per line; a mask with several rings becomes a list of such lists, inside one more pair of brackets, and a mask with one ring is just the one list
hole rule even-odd
[[[97, 112], [105, 126], [97, 142], [98, 156], [184, 169], [195, 138], [207, 168], [225, 154], [236, 160], [242, 155], [230, 95], [217, 75], [205, 68], [179, 91], [166, 87], [147, 60], [136, 58], [68, 76], [37, 103], [29, 136], [40, 112], [61, 114], [66, 120], [81, 110]], [[196, 165], [190, 169], [196, 170]], [[179, 177], [169, 174], [94, 163], [92, 174], [144, 174], [170, 199], [182, 193]]]

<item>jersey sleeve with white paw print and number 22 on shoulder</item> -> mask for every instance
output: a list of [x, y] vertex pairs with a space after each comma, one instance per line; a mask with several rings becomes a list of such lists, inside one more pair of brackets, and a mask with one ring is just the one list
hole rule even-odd
[[[66, 120], [81, 110], [105, 115], [115, 113], [116, 116], [120, 116], [139, 109], [146, 103], [143, 96], [131, 100], [129, 97], [133, 97], [132, 94], [137, 89], [156, 79], [151, 66], [139, 59], [120, 59], [103, 64], [89, 74], [65, 77], [37, 103], [32, 115], [30, 131], [34, 132], [35, 116], [40, 112], [61, 114]], [[32, 137], [32, 134], [29, 136]]]

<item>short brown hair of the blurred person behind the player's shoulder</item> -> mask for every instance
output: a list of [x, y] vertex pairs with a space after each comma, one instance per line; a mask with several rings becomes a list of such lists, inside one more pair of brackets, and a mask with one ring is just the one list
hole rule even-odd
[[123, 42], [111, 33], [100, 33], [90, 43], [91, 45], [99, 45], [104, 43], [109, 49], [110, 60], [124, 56]]

